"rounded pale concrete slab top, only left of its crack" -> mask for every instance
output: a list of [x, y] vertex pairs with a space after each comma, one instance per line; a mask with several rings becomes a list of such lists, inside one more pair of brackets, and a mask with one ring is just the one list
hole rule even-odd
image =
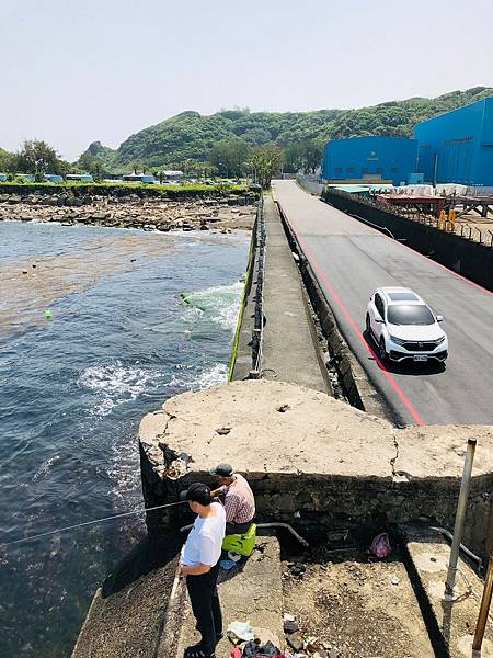
[[[286, 410], [278, 411], [283, 406]], [[231, 431], [218, 434], [222, 427]], [[171, 398], [163, 411], [144, 418], [140, 441], [161, 476], [164, 452], [173, 451], [187, 462], [188, 472], [207, 472], [215, 463], [230, 461], [237, 469], [256, 474], [391, 478], [392, 431], [387, 421], [323, 393], [246, 381]]]

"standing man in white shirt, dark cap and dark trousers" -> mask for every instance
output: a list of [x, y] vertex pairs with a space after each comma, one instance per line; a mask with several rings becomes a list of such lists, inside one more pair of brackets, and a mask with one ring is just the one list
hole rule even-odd
[[216, 644], [222, 637], [217, 577], [226, 513], [219, 502], [211, 501], [210, 489], [200, 483], [188, 487], [186, 500], [197, 518], [182, 549], [181, 572], [186, 576], [186, 589], [202, 640], [185, 649], [185, 658], [216, 658]]

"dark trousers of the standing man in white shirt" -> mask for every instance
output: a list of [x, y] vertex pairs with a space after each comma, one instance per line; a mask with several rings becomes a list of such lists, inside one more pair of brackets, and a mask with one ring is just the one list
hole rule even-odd
[[219, 563], [207, 574], [186, 577], [186, 589], [197, 621], [197, 631], [202, 635], [202, 646], [209, 654], [214, 654], [216, 649], [216, 635], [222, 633], [222, 613], [217, 593], [218, 574]]

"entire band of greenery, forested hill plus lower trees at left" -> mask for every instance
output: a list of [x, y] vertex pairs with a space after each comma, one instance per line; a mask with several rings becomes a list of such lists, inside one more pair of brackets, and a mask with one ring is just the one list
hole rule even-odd
[[37, 173], [38, 179], [43, 173], [88, 172], [96, 181], [110, 172], [149, 172], [163, 181], [165, 169], [181, 169], [195, 179], [255, 171], [260, 175], [263, 171], [265, 182], [280, 164], [288, 172], [314, 171], [329, 139], [411, 136], [414, 124], [491, 95], [492, 88], [474, 87], [436, 99], [414, 98], [359, 110], [280, 113], [237, 109], [210, 116], [182, 112], [131, 135], [116, 150], [93, 141], [74, 164], [39, 140], [24, 143], [18, 154], [0, 149], [0, 171]]

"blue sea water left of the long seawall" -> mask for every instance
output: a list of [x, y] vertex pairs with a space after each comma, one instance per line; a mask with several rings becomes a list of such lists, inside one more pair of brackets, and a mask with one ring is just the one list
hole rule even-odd
[[[0, 544], [142, 507], [139, 421], [226, 381], [248, 246], [0, 223]], [[144, 533], [136, 515], [0, 546], [0, 656], [69, 656]]]

